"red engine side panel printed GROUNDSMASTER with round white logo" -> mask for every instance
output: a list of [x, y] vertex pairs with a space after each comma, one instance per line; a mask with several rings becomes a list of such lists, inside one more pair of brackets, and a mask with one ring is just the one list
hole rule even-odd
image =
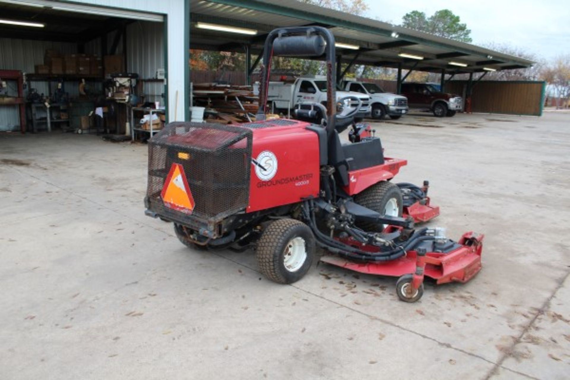
[[291, 121], [295, 124], [253, 128], [247, 213], [319, 196], [319, 137], [306, 129], [308, 122]]

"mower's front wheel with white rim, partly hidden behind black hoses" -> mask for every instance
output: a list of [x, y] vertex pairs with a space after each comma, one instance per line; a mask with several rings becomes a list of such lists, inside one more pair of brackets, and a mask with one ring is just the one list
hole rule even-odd
[[[400, 187], [388, 181], [378, 182], [362, 193], [355, 195], [355, 202], [367, 209], [382, 215], [402, 216], [404, 202]], [[378, 226], [374, 223], [356, 223], [364, 231], [382, 232], [386, 225]]]

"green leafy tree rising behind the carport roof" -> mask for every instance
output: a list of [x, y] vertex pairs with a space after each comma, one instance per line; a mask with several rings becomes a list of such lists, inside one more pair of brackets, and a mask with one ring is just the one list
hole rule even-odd
[[411, 11], [402, 17], [402, 26], [462, 42], [473, 41], [467, 24], [461, 23], [461, 18], [449, 9], [438, 10], [430, 17], [424, 12]]

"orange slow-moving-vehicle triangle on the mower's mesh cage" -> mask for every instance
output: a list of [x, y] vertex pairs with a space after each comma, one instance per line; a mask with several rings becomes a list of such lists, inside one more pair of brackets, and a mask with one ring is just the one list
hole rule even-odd
[[186, 181], [184, 167], [180, 164], [172, 164], [170, 172], [164, 187], [162, 187], [162, 201], [166, 207], [181, 211], [182, 213], [192, 214], [194, 210], [194, 198]]

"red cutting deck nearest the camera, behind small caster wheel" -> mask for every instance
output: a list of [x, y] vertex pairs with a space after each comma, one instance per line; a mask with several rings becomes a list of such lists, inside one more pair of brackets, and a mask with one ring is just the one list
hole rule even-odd
[[[462, 247], [448, 254], [427, 252], [425, 275], [436, 280], [438, 284], [452, 281], [466, 283], [481, 270], [483, 237], [483, 235], [467, 232], [458, 242]], [[394, 277], [414, 273], [418, 261], [416, 251], [408, 251], [405, 256], [396, 260], [376, 263], [355, 262], [337, 256], [323, 256], [320, 260], [351, 271]]]

